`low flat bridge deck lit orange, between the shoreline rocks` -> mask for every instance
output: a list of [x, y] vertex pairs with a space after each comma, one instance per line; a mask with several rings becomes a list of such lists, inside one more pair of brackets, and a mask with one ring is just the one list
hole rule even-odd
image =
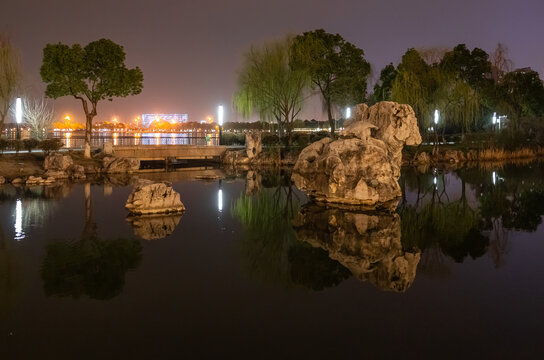
[[226, 146], [206, 145], [137, 145], [113, 146], [113, 155], [143, 161], [173, 159], [217, 159], [226, 151]]

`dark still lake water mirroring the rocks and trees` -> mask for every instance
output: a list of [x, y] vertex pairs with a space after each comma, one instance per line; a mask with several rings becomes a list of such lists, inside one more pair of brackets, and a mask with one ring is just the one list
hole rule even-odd
[[2, 359], [544, 356], [542, 165], [405, 169], [396, 214], [139, 176], [183, 216], [127, 219], [126, 178], [0, 187]]

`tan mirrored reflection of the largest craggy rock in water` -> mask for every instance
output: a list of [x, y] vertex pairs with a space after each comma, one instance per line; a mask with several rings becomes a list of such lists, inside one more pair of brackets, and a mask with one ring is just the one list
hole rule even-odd
[[398, 214], [310, 204], [302, 208], [293, 225], [300, 241], [326, 250], [359, 280], [397, 292], [406, 291], [414, 281], [420, 253], [403, 251]]

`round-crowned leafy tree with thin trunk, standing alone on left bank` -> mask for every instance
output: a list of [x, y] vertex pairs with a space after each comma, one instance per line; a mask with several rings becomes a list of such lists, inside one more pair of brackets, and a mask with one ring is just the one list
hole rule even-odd
[[123, 47], [108, 39], [93, 41], [85, 47], [48, 44], [43, 49], [40, 69], [50, 98], [73, 96], [85, 112], [85, 157], [91, 157], [92, 121], [100, 100], [136, 95], [142, 91], [140, 68], [127, 69]]

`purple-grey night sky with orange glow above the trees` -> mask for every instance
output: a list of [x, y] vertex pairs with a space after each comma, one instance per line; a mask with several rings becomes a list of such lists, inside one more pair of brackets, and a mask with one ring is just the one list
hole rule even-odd
[[[466, 43], [491, 53], [509, 48], [515, 68], [544, 74], [542, 0], [4, 0], [0, 32], [18, 48], [26, 93], [45, 89], [39, 75], [47, 43], [87, 43], [109, 38], [123, 45], [129, 67], [144, 73], [140, 95], [98, 104], [96, 121], [122, 121], [141, 113], [187, 113], [200, 121], [227, 105], [226, 121], [241, 121], [231, 109], [242, 54], [250, 45], [286, 34], [324, 28], [365, 51], [372, 85], [380, 69], [398, 63], [410, 47]], [[54, 101], [59, 116], [83, 121], [81, 104]], [[303, 118], [324, 120], [311, 102]]]

